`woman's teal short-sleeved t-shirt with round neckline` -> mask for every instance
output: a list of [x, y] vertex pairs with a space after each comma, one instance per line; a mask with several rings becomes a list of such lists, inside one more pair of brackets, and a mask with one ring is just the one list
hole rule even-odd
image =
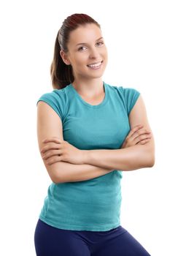
[[[70, 83], [64, 89], [42, 94], [38, 102], [47, 102], [58, 113], [63, 140], [73, 146], [85, 150], [117, 149], [130, 132], [128, 115], [140, 92], [105, 82], [104, 91], [103, 101], [90, 105]], [[113, 170], [87, 181], [52, 182], [39, 218], [64, 230], [106, 231], [118, 227], [122, 177], [122, 170]]]

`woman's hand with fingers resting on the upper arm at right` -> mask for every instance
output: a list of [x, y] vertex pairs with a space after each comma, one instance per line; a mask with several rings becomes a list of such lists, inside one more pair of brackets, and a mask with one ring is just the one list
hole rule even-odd
[[145, 143], [148, 143], [151, 138], [150, 131], [147, 131], [147, 129], [141, 129], [142, 127], [144, 126], [139, 124], [131, 129], [131, 132], [129, 132], [128, 136], [123, 141], [121, 148], [128, 148], [136, 144], [144, 145]]

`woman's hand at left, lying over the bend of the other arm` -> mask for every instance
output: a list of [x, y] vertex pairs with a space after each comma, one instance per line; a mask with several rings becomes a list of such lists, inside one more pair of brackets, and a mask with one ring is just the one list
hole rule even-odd
[[47, 165], [52, 165], [54, 162], [69, 162], [74, 165], [82, 164], [82, 151], [66, 140], [60, 140], [56, 137], [42, 141], [47, 143], [41, 149], [42, 158], [47, 160]]

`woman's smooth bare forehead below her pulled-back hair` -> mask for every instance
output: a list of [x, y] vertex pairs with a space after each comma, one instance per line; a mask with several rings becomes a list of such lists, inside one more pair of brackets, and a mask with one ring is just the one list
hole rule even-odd
[[79, 26], [69, 34], [69, 44], [77, 45], [81, 42], [92, 42], [102, 37], [101, 29], [96, 24], [90, 23]]

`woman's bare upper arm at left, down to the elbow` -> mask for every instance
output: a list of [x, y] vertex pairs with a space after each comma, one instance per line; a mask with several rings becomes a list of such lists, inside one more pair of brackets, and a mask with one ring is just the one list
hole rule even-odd
[[[58, 113], [53, 110], [46, 102], [39, 101], [37, 104], [37, 138], [39, 144], [39, 151], [45, 146], [42, 140], [45, 138], [57, 137], [63, 140], [63, 127], [61, 118]], [[41, 154], [41, 153], [40, 153]], [[47, 165], [45, 160], [42, 159], [47, 172], [53, 182], [56, 182], [58, 162], [53, 165]]]

